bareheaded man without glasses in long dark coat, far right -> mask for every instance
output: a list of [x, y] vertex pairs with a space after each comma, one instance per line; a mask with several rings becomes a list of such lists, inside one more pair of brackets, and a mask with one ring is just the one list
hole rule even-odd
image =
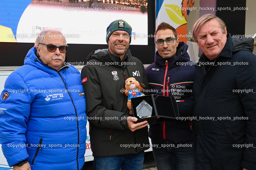
[[253, 39], [232, 38], [224, 21], [211, 14], [196, 21], [193, 37], [203, 52], [196, 65], [190, 105], [196, 119], [195, 169], [255, 170]]

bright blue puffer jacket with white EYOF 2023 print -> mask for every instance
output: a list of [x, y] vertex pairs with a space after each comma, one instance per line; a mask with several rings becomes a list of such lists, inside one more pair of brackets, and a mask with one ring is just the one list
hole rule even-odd
[[58, 71], [28, 52], [7, 78], [0, 101], [0, 143], [9, 166], [28, 158], [32, 170], [80, 170], [86, 106], [80, 72]]

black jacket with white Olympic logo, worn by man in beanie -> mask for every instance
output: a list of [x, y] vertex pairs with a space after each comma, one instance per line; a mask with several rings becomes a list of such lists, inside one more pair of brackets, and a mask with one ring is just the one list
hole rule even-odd
[[134, 77], [148, 88], [141, 61], [130, 50], [123, 61], [108, 49], [97, 50], [89, 56], [82, 69], [82, 84], [86, 89], [86, 113], [90, 122], [90, 141], [93, 156], [134, 154], [148, 149], [148, 128], [130, 131], [127, 96], [122, 94], [125, 79]]

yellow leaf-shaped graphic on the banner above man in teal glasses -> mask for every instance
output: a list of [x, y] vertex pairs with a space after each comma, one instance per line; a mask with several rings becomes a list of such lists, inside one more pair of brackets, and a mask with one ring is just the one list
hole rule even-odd
[[164, 6], [167, 7], [165, 10], [172, 21], [174, 21], [179, 25], [184, 25], [187, 23], [187, 20], [185, 16], [182, 14], [182, 10], [180, 10], [179, 6], [177, 5], [164, 5]]

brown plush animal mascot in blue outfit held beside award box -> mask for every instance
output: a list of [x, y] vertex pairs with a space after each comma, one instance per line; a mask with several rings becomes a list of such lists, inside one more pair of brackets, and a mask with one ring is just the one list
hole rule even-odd
[[130, 114], [132, 113], [131, 98], [145, 96], [142, 94], [143, 88], [145, 88], [145, 85], [142, 83], [139, 84], [134, 77], [129, 77], [125, 80], [125, 89], [122, 88], [122, 91], [126, 96], [128, 96], [127, 107], [130, 109]]

